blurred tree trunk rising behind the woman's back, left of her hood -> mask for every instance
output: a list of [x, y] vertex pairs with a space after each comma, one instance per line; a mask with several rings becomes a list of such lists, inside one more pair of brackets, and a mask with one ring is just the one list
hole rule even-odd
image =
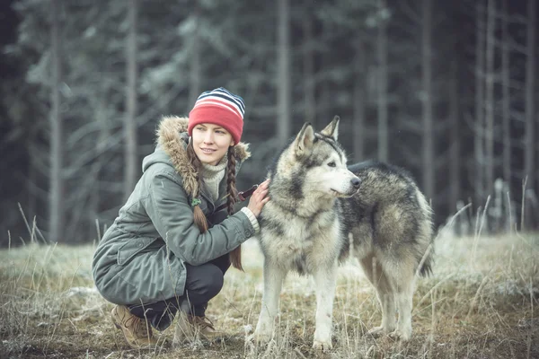
[[126, 136], [124, 158], [124, 198], [127, 199], [137, 183], [137, 0], [130, 0], [128, 5], [128, 39], [127, 39], [127, 115], [124, 119]]

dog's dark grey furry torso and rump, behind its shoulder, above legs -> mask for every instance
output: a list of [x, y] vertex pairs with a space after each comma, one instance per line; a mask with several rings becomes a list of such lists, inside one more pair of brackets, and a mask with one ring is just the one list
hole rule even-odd
[[414, 269], [421, 265], [420, 274], [428, 274], [432, 249], [423, 256], [433, 239], [432, 211], [410, 173], [376, 161], [353, 164], [349, 171], [361, 180], [356, 195], [341, 199], [346, 214], [344, 230], [352, 234], [357, 255], [373, 251], [388, 264], [397, 257], [411, 257]]

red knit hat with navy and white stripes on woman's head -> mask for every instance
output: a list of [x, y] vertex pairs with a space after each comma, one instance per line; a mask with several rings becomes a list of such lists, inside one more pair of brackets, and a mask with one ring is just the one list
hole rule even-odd
[[211, 123], [225, 128], [238, 144], [243, 132], [243, 99], [224, 87], [202, 92], [189, 113], [187, 132], [192, 135], [193, 127], [201, 123]]

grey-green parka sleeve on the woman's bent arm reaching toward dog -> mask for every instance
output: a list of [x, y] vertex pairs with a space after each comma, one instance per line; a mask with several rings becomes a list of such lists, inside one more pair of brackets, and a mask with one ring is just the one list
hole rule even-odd
[[207, 263], [234, 250], [254, 234], [247, 215], [238, 212], [200, 233], [185, 190], [166, 173], [149, 183], [146, 212], [172, 253], [191, 266]]

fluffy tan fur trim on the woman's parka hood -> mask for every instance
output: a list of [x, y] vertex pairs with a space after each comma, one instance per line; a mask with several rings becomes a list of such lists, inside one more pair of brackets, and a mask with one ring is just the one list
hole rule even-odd
[[[155, 162], [166, 162], [180, 174], [183, 180], [183, 188], [195, 197], [198, 192], [197, 171], [190, 164], [187, 158], [187, 144], [189, 135], [187, 134], [187, 123], [189, 118], [180, 118], [176, 116], [163, 117], [157, 128], [157, 148], [155, 153], [146, 156], [142, 164], [142, 171]], [[234, 155], [239, 166], [241, 162], [251, 157], [249, 144], [234, 145]], [[238, 167], [236, 167], [237, 169]], [[237, 171], [237, 170], [236, 170]]]

